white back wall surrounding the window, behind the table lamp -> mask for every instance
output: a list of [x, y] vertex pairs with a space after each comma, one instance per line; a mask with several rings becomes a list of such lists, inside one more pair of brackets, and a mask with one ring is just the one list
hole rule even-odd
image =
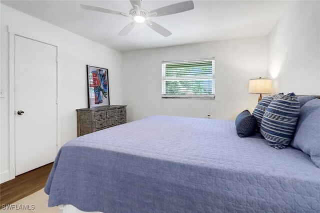
[[[161, 99], [161, 62], [215, 57], [215, 99]], [[267, 75], [267, 37], [252, 37], [123, 53], [123, 103], [127, 120], [153, 114], [234, 119], [252, 109], [248, 79]]]

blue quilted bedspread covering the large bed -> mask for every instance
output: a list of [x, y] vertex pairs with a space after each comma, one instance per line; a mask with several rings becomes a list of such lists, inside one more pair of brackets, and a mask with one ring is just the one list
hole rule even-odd
[[320, 169], [308, 155], [213, 119], [151, 116], [76, 138], [44, 190], [49, 207], [86, 212], [320, 212]]

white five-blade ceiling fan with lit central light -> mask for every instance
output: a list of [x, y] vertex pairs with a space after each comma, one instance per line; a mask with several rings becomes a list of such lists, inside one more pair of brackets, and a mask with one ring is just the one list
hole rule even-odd
[[174, 3], [174, 4], [171, 4], [168, 6], [163, 6], [158, 9], [154, 9], [154, 10], [148, 12], [147, 10], [141, 8], [140, 2], [141, 2], [140, 0], [130, 0], [130, 3], [132, 5], [132, 9], [130, 9], [129, 14], [124, 13], [124, 12], [119, 12], [116, 10], [112, 10], [112, 9], [107, 9], [104, 7], [87, 5], [87, 4], [80, 4], [80, 6], [84, 9], [89, 9], [89, 10], [98, 11], [98, 12], [105, 12], [105, 13], [115, 14], [115, 15], [123, 15], [123, 16], [127, 16], [127, 17], [132, 18], [133, 21], [128, 23], [118, 33], [119, 35], [128, 34], [137, 23], [144, 22], [151, 29], [153, 29], [157, 33], [163, 35], [164, 37], [167, 37], [167, 36], [171, 35], [172, 33], [169, 30], [165, 29], [163, 26], [160, 26], [159, 24], [149, 20], [150, 17], [170, 15], [170, 14], [174, 14], [174, 13], [184, 12], [184, 11], [187, 11], [187, 10], [194, 8], [193, 1], [188, 0], [188, 1], [182, 1], [179, 3]]

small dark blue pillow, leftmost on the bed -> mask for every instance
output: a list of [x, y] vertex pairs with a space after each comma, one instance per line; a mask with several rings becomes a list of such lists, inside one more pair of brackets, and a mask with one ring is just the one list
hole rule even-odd
[[244, 110], [235, 119], [236, 133], [240, 138], [252, 135], [256, 129], [256, 119], [248, 110]]

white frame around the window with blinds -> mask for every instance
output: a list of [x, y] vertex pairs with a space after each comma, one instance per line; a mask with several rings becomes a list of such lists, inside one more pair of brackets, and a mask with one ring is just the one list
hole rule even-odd
[[[214, 84], [212, 83], [212, 91], [214, 94], [210, 95], [175, 95], [175, 94], [163, 94], [165, 91], [165, 66], [166, 64], [173, 64], [173, 63], [188, 63], [188, 62], [200, 62], [200, 61], [212, 61], [212, 77], [211, 79], [214, 80]], [[163, 67], [164, 66], [164, 67]], [[176, 79], [191, 79], [192, 77], [171, 77]], [[194, 77], [194, 79], [208, 79], [205, 77]], [[161, 98], [168, 99], [168, 98], [178, 98], [178, 99], [214, 99], [215, 98], [215, 58], [200, 58], [200, 59], [192, 59], [192, 60], [177, 60], [177, 61], [162, 61], [161, 62]]]

